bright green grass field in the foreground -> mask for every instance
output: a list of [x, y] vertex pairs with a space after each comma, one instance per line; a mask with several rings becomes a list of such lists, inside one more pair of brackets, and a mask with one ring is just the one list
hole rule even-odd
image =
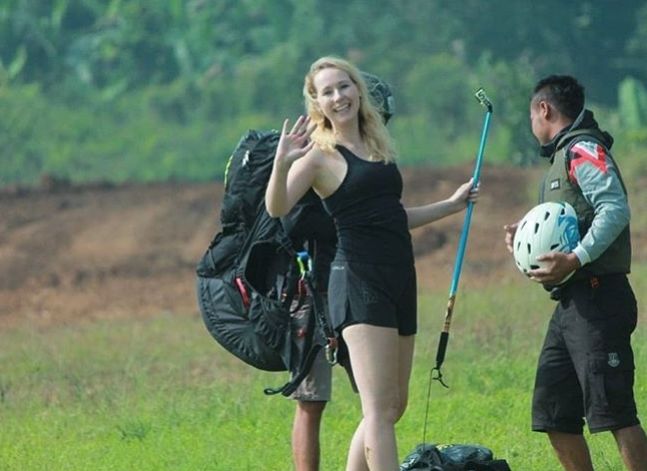
[[[636, 397], [647, 410], [647, 266], [632, 283]], [[401, 456], [422, 440], [429, 368], [446, 292], [421, 297]], [[480, 443], [514, 471], [557, 470], [529, 431], [534, 366], [552, 303], [519, 279], [459, 292], [444, 366], [432, 385], [427, 442]], [[0, 470], [290, 470], [294, 404], [266, 397], [285, 375], [262, 373], [215, 344], [196, 313], [0, 332]], [[323, 425], [323, 470], [344, 467], [359, 417], [340, 368]], [[598, 470], [622, 469], [610, 434], [590, 438]]]

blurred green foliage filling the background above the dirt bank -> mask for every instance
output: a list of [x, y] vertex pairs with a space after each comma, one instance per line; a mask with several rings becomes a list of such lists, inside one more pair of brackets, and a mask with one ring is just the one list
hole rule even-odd
[[[214, 178], [218, 172], [200, 167], [228, 154], [233, 135], [302, 112], [303, 75], [325, 54], [393, 85], [391, 127], [403, 164], [473, 158], [481, 115], [471, 95], [482, 86], [495, 104], [488, 159], [527, 165], [536, 152], [527, 120], [534, 81], [573, 73], [592, 101], [614, 106], [622, 79], [647, 78], [645, 22], [635, 20], [646, 12], [639, 0], [623, 8], [556, 0], [7, 0], [0, 99], [18, 123], [0, 117], [10, 133], [0, 137], [9, 144], [0, 148], [8, 169], [0, 184], [45, 173]], [[620, 95], [624, 115], [638, 95]], [[647, 147], [644, 127], [619, 137]]]

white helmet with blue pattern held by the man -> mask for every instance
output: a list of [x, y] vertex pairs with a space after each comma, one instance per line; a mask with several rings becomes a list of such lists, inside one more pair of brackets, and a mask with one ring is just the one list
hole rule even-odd
[[[580, 241], [577, 214], [564, 202], [542, 203], [523, 217], [514, 235], [513, 254], [517, 268], [524, 275], [528, 270], [543, 267], [537, 257], [548, 252], [571, 252]], [[568, 280], [566, 275], [559, 284]]]

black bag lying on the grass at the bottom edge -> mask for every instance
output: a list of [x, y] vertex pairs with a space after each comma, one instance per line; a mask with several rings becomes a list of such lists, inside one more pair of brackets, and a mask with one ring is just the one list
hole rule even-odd
[[424, 443], [409, 453], [400, 471], [511, 471], [505, 460], [494, 459], [481, 445]]

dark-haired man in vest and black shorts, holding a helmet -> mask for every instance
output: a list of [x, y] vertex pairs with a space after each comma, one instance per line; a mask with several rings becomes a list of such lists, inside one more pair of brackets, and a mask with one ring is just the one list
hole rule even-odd
[[[627, 469], [647, 471], [647, 438], [633, 394], [630, 212], [610, 154], [613, 138], [585, 109], [584, 88], [570, 76], [537, 83], [530, 121], [551, 164], [540, 202], [570, 203], [582, 234], [571, 253], [540, 256], [544, 268], [529, 272], [558, 302], [538, 361], [532, 429], [548, 434], [565, 470], [593, 471], [582, 434], [586, 418], [592, 433], [613, 433]], [[505, 231], [512, 252], [516, 224]]]

